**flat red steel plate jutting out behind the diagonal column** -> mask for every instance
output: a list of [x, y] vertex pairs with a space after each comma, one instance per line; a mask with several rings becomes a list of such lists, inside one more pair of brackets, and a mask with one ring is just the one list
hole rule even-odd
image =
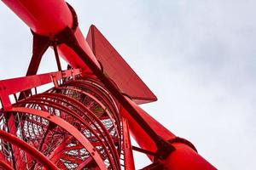
[[129, 95], [137, 104], [157, 100], [147, 85], [137, 76], [96, 26], [90, 26], [86, 41], [96, 55], [96, 59], [101, 62], [104, 73], [115, 82], [122, 93]]

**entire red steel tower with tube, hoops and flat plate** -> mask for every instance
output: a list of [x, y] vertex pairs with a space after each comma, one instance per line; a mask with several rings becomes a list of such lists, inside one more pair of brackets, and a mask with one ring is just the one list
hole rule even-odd
[[[155, 101], [154, 94], [96, 26], [84, 38], [69, 4], [3, 3], [29, 26], [33, 48], [26, 77], [0, 81], [2, 169], [132, 170], [132, 150], [152, 161], [143, 169], [216, 169], [188, 140], [143, 111], [139, 105]], [[58, 71], [37, 75], [49, 47]], [[68, 63], [65, 71], [59, 56]], [[38, 93], [47, 83], [53, 87]]]

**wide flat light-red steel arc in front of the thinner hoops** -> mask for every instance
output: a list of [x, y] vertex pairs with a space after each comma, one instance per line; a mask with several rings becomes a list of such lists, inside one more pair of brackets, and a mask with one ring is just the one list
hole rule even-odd
[[21, 113], [29, 113], [35, 116], [41, 116], [44, 117], [44, 119], [47, 119], [49, 122], [53, 122], [59, 127], [62, 127], [65, 129], [68, 133], [72, 134], [75, 139], [79, 141], [80, 144], [84, 146], [86, 150], [89, 151], [90, 156], [96, 161], [97, 165], [102, 169], [106, 169], [106, 166], [104, 162], [102, 161], [102, 157], [96, 152], [96, 149], [92, 144], [90, 144], [90, 141], [84, 137], [82, 133], [79, 132], [78, 129], [73, 127], [70, 123], [66, 122], [65, 120], [61, 119], [58, 116], [50, 115], [46, 111], [39, 111], [35, 109], [30, 108], [24, 108], [24, 107], [14, 107], [9, 111], [6, 112], [21, 112]]

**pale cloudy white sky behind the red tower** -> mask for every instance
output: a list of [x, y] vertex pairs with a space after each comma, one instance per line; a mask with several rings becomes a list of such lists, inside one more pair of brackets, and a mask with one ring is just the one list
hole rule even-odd
[[[156, 94], [143, 106], [150, 115], [218, 169], [255, 168], [255, 1], [68, 2], [84, 34], [95, 24]], [[0, 21], [0, 78], [23, 76], [31, 33], [3, 3]], [[49, 70], [51, 53], [40, 72]], [[147, 162], [137, 156], [137, 167]]]

